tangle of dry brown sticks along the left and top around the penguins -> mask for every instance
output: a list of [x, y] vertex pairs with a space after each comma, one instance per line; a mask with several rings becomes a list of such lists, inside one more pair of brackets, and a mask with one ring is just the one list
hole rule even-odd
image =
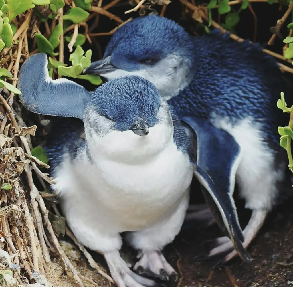
[[[197, 6], [194, 0], [180, 1], [183, 16], [192, 17], [199, 23], [208, 21], [206, 5]], [[250, 0], [250, 2], [253, 1], [255, 0]], [[261, 0], [258, 1], [261, 2]], [[64, 0], [64, 2], [66, 4], [64, 8], [59, 9], [57, 16], [50, 21], [42, 22], [32, 9], [25, 11], [14, 20], [17, 30], [13, 36], [13, 45], [10, 48], [4, 48], [0, 53], [0, 65], [12, 72], [13, 78], [9, 80], [12, 81], [13, 86], [17, 84], [21, 63], [30, 55], [38, 52], [35, 33], [41, 33], [40, 30], [42, 30], [44, 31], [42, 34], [48, 38], [57, 24], [63, 25], [64, 11], [75, 6], [73, 0]], [[72, 51], [78, 33], [83, 33], [88, 43], [92, 44], [93, 41], [98, 42], [99, 37], [112, 35], [118, 27], [132, 20], [127, 16], [127, 20], [124, 21], [109, 12], [111, 7], [120, 6], [123, 13], [126, 12], [125, 14], [138, 11], [140, 16], [150, 13], [164, 16], [170, 1], [113, 0], [110, 2], [105, 0], [105, 2], [107, 3], [104, 4], [102, 0], [92, 1], [88, 18], [84, 22], [72, 24], [66, 28], [64, 35], [71, 34], [72, 38], [67, 45], [66, 42], [64, 43], [64, 35], [60, 35], [59, 55], [53, 57], [55, 60], [64, 62], [64, 51], [65, 54], [66, 51]], [[233, 5], [240, 1], [230, 1], [229, 3]], [[42, 7], [39, 12], [47, 13], [47, 6]], [[159, 8], [156, 10], [154, 7]], [[275, 33], [270, 39], [271, 44], [292, 7], [293, 4], [288, 7], [283, 18], [277, 22]], [[250, 4], [249, 9], [255, 17]], [[110, 18], [116, 23], [116, 27], [108, 32], [93, 33], [99, 25], [100, 15]], [[211, 25], [223, 32], [226, 31], [215, 21], [211, 21]], [[230, 37], [236, 41], [242, 41], [234, 34], [230, 34]], [[291, 63], [283, 55], [269, 50], [264, 50], [264, 52]], [[293, 69], [285, 64], [280, 63], [280, 68], [293, 72]], [[56, 71], [53, 73], [53, 77], [58, 77]], [[56, 281], [52, 282], [52, 278], [56, 275], [55, 271], [52, 272], [52, 266], [59, 264], [62, 269], [60, 274], [65, 270], [66, 274], [70, 274], [80, 287], [99, 286], [91, 277], [81, 274], [64, 252], [64, 248], [62, 249], [58, 235], [64, 232], [84, 254], [91, 269], [100, 274], [105, 286], [113, 283], [105, 269], [93, 260], [88, 251], [77, 242], [66, 227], [64, 218], [56, 206], [54, 194], [44, 192], [53, 183], [53, 179], [46, 173], [49, 166], [34, 157], [31, 149], [36, 143], [34, 136], [37, 126], [45, 135], [48, 122], [42, 116], [32, 117], [32, 114], [24, 111], [17, 96], [5, 87], [1, 88], [0, 100], [0, 285], [56, 286]], [[27, 126], [26, 122], [33, 123], [33, 125]], [[5, 186], [9, 186], [9, 188], [5, 188]], [[69, 286], [71, 285], [69, 284]]]

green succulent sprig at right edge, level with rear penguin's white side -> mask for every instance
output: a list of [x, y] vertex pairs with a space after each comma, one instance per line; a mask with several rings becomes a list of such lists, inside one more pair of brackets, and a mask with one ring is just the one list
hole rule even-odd
[[287, 107], [285, 102], [284, 93], [281, 92], [281, 99], [277, 101], [277, 107], [283, 111], [283, 113], [290, 113], [289, 125], [287, 127], [278, 127], [278, 133], [280, 137], [280, 146], [287, 151], [289, 164], [289, 169], [293, 172], [293, 158], [291, 150], [291, 140], [293, 140], [293, 106], [291, 108]]

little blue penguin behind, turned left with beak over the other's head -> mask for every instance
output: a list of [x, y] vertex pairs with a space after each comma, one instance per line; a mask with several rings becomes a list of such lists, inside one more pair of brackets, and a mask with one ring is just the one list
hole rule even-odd
[[[197, 138], [196, 162], [207, 204], [229, 237], [216, 240], [209, 257], [224, 261], [245, 251], [267, 214], [292, 193], [278, 125], [288, 117], [277, 106], [292, 85], [260, 45], [232, 42], [218, 30], [189, 35], [174, 21], [155, 15], [136, 18], [113, 34], [102, 60], [86, 74], [105, 79], [137, 75], [151, 81]], [[241, 230], [233, 199], [235, 183], [251, 219]], [[242, 242], [242, 243], [241, 243]], [[239, 243], [241, 246], [239, 246]], [[230, 252], [230, 253], [229, 253]]]

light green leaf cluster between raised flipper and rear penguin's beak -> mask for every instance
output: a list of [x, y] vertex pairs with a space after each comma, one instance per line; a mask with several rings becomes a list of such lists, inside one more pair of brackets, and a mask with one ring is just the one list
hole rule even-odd
[[[69, 56], [72, 66], [64, 67], [63, 65], [59, 65], [57, 68], [58, 74], [71, 78], [84, 79], [90, 81], [94, 85], [100, 85], [102, 80], [98, 75], [81, 75], [83, 69], [91, 65], [91, 54], [91, 50], [87, 50], [84, 55], [84, 50], [81, 46], [77, 46], [75, 51]], [[52, 64], [52, 61], [50, 61], [50, 63]]]

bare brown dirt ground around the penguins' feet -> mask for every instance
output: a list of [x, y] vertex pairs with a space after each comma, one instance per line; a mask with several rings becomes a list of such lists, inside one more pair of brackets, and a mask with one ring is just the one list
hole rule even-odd
[[[249, 218], [243, 210], [241, 223]], [[253, 261], [251, 264], [243, 263], [236, 258], [222, 266], [215, 268], [218, 259], [197, 261], [197, 255], [207, 252], [206, 240], [222, 236], [216, 225], [205, 227], [194, 224], [185, 226], [175, 241], [166, 247], [164, 254], [167, 260], [178, 271], [179, 282], [166, 284], [178, 287], [290, 287], [293, 286], [293, 202], [274, 210], [266, 220], [257, 238], [248, 249]], [[72, 244], [69, 238], [61, 241], [62, 248], [74, 263], [81, 276], [91, 278], [98, 283], [96, 286], [110, 287], [111, 284], [92, 269], [86, 258]], [[108, 272], [103, 257], [91, 252], [96, 262]], [[122, 256], [133, 262], [134, 252], [127, 247], [123, 248]], [[62, 271], [57, 259], [52, 264], [49, 280], [54, 287], [77, 286], [68, 272]], [[58, 279], [57, 279], [58, 278]], [[84, 278], [83, 278], [84, 279]], [[83, 280], [86, 287], [93, 286]], [[113, 285], [112, 285], [113, 286]]]

